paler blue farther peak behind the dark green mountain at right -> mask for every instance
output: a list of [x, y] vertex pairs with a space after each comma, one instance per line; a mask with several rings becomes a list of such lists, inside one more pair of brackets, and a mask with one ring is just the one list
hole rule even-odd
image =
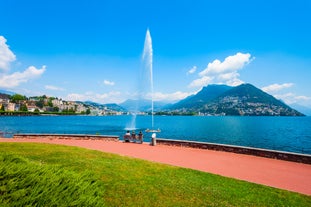
[[203, 107], [209, 101], [215, 99], [216, 97], [220, 96], [224, 92], [232, 89], [232, 87], [227, 85], [208, 85], [203, 87], [201, 91], [199, 91], [195, 95], [188, 96], [187, 98], [173, 104], [169, 107], [169, 109], [199, 109]]

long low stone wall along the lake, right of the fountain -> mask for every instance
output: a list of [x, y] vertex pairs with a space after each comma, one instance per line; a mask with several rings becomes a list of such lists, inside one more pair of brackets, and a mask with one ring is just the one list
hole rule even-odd
[[224, 145], [224, 144], [214, 144], [214, 143], [207, 143], [207, 142], [193, 142], [193, 141], [170, 140], [170, 139], [160, 139], [160, 138], [157, 138], [156, 142], [159, 145], [209, 149], [209, 150], [255, 155], [255, 156], [267, 157], [267, 158], [272, 158], [272, 159], [280, 159], [280, 160], [286, 160], [286, 161], [292, 161], [292, 162], [311, 164], [311, 155], [306, 155], [306, 154], [266, 150], [266, 149], [251, 148], [251, 147], [241, 147], [241, 146], [233, 146], [233, 145]]

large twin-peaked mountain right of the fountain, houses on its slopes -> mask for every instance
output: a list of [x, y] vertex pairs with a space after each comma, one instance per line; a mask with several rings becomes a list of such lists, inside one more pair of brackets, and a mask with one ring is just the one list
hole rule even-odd
[[173, 105], [171, 109], [206, 115], [303, 116], [251, 84], [236, 87], [207, 86], [196, 95]]

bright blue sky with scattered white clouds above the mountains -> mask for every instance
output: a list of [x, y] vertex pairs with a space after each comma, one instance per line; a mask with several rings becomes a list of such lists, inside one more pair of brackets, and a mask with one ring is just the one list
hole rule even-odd
[[149, 87], [140, 75], [149, 29], [154, 100], [251, 83], [311, 107], [310, 11], [309, 0], [0, 0], [0, 89], [135, 99]]

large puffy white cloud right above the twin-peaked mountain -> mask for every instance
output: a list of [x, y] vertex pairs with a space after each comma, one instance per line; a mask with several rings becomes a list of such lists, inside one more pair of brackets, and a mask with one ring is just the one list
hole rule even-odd
[[241, 70], [245, 65], [249, 64], [254, 57], [251, 58], [249, 53], [236, 53], [235, 55], [228, 56], [223, 62], [214, 60], [208, 63], [207, 67], [199, 73], [199, 78], [193, 80], [189, 87], [203, 87], [207, 84], [227, 84], [230, 86], [237, 86], [244, 83], [239, 79]]

